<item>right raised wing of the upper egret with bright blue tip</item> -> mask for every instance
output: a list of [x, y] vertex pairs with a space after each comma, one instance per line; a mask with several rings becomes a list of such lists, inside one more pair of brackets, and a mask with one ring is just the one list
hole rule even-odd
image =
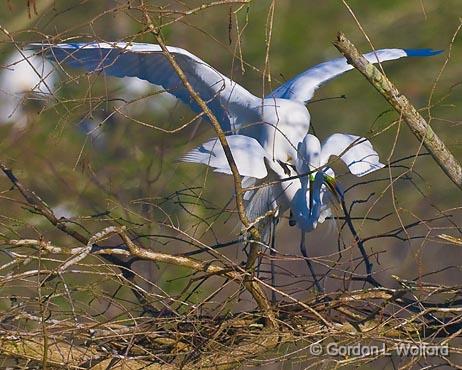
[[[378, 63], [379, 61], [385, 62], [403, 57], [432, 56], [441, 52], [442, 50], [432, 49], [381, 49], [364, 54], [364, 57], [370, 63]], [[343, 57], [318, 64], [279, 86], [267, 98], [283, 98], [307, 102], [313, 97], [319, 86], [351, 69], [353, 69], [353, 66], [348, 64], [346, 58]]]

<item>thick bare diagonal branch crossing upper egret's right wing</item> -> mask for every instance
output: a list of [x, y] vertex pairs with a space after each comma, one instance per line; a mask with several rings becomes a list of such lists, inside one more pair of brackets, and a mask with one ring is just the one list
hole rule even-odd
[[334, 46], [345, 56], [348, 63], [360, 71], [403, 117], [413, 134], [423, 143], [441, 169], [462, 189], [462, 167], [460, 163], [409, 100], [398, 91], [383, 73], [364, 58], [343, 33], [338, 33]]

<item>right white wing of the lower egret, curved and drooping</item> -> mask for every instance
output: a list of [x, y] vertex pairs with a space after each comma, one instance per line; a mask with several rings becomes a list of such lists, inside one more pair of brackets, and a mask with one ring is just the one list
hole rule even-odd
[[341, 158], [355, 176], [364, 176], [374, 172], [384, 165], [379, 161], [379, 155], [366, 138], [333, 134], [321, 145], [321, 164], [326, 164], [331, 155]]

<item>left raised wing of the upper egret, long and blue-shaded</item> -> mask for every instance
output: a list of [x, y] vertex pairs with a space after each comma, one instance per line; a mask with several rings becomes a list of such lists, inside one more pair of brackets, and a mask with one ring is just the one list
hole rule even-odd
[[[31, 44], [29, 49], [45, 57], [90, 72], [116, 77], [138, 77], [162, 86], [195, 112], [193, 101], [159, 45], [145, 43], [69, 43]], [[258, 98], [186, 50], [167, 47], [193, 89], [207, 103], [223, 130], [233, 131], [233, 114], [258, 105]]]

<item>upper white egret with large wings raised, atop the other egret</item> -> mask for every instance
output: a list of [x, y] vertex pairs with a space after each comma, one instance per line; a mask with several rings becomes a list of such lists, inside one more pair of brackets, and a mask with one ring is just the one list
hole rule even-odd
[[[138, 77], [162, 86], [196, 111], [200, 108], [170, 65], [159, 45], [146, 43], [31, 44], [29, 48], [52, 61], [116, 77]], [[310, 114], [305, 106], [316, 89], [351, 70], [345, 58], [318, 64], [300, 73], [265, 98], [251, 94], [195, 55], [167, 47], [186, 78], [207, 103], [227, 133], [255, 138], [272, 159], [293, 164], [296, 148], [308, 132]], [[440, 53], [431, 49], [382, 49], [365, 54], [371, 63], [408, 56]]]

